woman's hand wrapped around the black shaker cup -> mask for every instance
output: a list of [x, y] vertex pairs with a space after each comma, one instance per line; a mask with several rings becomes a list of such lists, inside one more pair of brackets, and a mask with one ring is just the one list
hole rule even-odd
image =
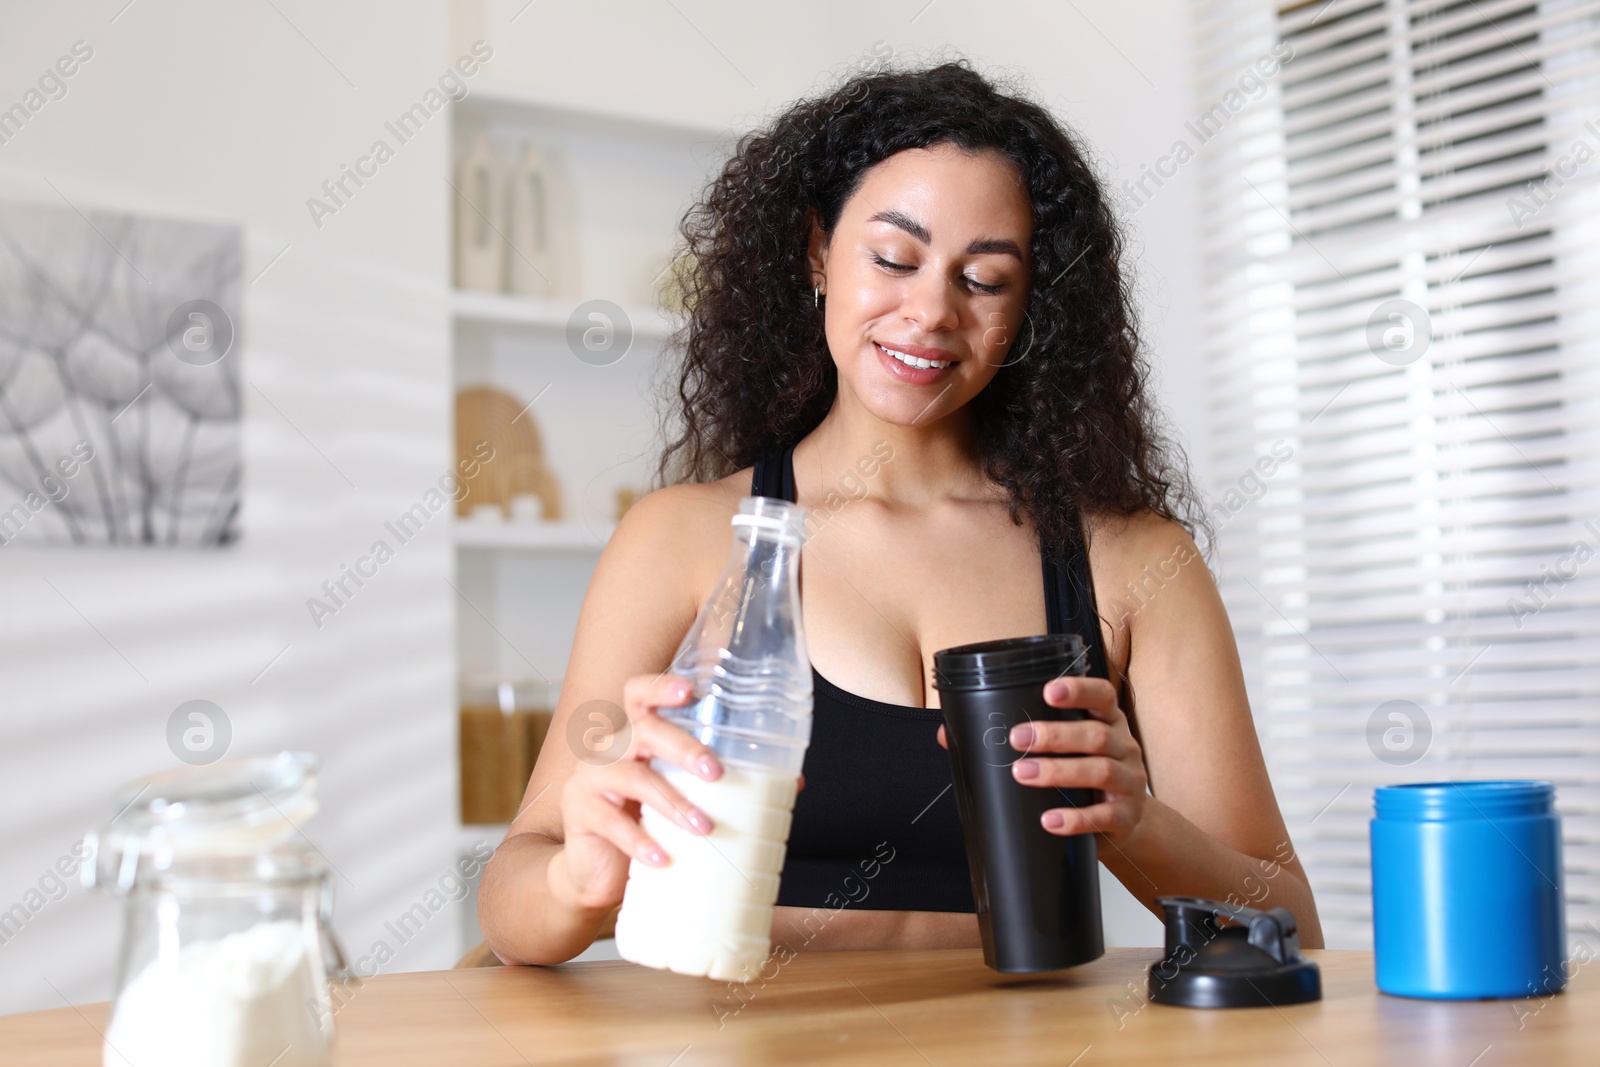
[[[1080, 707], [1090, 718], [1013, 726], [1011, 747], [1022, 758], [1011, 765], [1011, 776], [1040, 789], [1101, 790], [1099, 803], [1046, 811], [1040, 822], [1050, 833], [1126, 838], [1144, 816], [1149, 779], [1139, 742], [1117, 705], [1117, 689], [1104, 678], [1054, 678], [1045, 685], [1045, 702]], [[944, 726], [939, 726], [939, 744], [946, 744]]]

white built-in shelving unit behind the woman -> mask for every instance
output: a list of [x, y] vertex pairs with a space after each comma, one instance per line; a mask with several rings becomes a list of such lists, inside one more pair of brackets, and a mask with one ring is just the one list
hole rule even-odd
[[[554, 681], [616, 528], [618, 494], [643, 494], [651, 485], [658, 357], [677, 325], [654, 307], [654, 282], [677, 243], [678, 219], [720, 166], [731, 134], [563, 107], [483, 82], [453, 106], [451, 126], [453, 158], [478, 131], [506, 157], [536, 139], [565, 171], [574, 200], [576, 261], [562, 264], [560, 296], [451, 294], [454, 387], [486, 384], [534, 402], [528, 414], [562, 486], [558, 520], [454, 523], [461, 672]], [[454, 194], [446, 194], [454, 214]], [[592, 299], [621, 307], [632, 328], [627, 354], [613, 365], [595, 366], [568, 346], [573, 312]], [[504, 832], [462, 825], [459, 848], [498, 843]], [[477, 939], [469, 909], [462, 942]]]

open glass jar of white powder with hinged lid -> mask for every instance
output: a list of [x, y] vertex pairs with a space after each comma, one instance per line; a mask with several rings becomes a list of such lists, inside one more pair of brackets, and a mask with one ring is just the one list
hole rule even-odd
[[283, 752], [131, 782], [90, 835], [86, 885], [125, 899], [106, 1067], [325, 1067], [328, 864], [299, 827], [317, 757]]

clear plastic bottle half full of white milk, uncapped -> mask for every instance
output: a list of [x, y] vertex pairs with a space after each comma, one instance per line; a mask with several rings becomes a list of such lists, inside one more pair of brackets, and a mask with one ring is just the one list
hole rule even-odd
[[733, 517], [733, 550], [672, 673], [694, 685], [662, 718], [722, 761], [707, 782], [651, 766], [714, 822], [680, 829], [645, 806], [640, 824], [670, 856], [629, 865], [616, 949], [645, 966], [749, 981], [771, 952], [773, 904], [789, 845], [795, 785], [811, 741], [811, 659], [800, 621], [805, 509], [750, 496]]

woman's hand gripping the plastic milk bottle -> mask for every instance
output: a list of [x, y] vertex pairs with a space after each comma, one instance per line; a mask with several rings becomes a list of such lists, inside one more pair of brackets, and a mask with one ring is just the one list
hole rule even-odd
[[622, 902], [629, 861], [653, 867], [669, 862], [661, 845], [638, 824], [640, 805], [659, 811], [691, 833], [710, 833], [710, 817], [685, 800], [650, 766], [651, 758], [680, 766], [707, 782], [722, 776], [710, 749], [658, 715], [680, 707], [693, 686], [675, 675], [638, 675], [622, 688], [627, 749], [621, 758], [578, 753], [578, 768], [562, 787], [563, 848], [549, 865], [557, 899], [586, 910]]

